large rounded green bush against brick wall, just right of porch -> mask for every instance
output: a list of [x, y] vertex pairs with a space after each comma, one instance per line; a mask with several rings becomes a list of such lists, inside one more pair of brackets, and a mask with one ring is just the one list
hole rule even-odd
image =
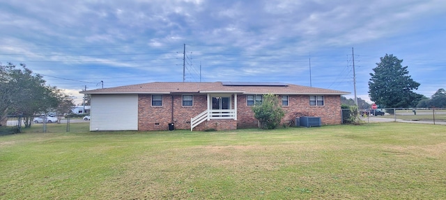
[[279, 126], [284, 110], [279, 104], [279, 98], [275, 94], [263, 94], [261, 105], [252, 106], [254, 117], [259, 119], [261, 128], [274, 129]]

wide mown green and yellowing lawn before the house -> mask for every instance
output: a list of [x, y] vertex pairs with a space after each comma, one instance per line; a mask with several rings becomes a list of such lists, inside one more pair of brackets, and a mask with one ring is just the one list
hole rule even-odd
[[446, 199], [446, 128], [379, 123], [0, 137], [0, 199]]

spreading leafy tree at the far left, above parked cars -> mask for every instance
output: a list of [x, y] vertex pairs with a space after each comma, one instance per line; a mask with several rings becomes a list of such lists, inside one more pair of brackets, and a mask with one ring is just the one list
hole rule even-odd
[[74, 105], [72, 98], [47, 85], [43, 76], [33, 73], [26, 65], [0, 64], [0, 122], [8, 115], [20, 116], [25, 128], [29, 128], [36, 115], [70, 113]]

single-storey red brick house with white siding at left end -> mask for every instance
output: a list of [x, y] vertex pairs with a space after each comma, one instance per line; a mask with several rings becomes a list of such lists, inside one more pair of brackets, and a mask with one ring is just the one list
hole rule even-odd
[[251, 106], [263, 94], [282, 99], [285, 117], [321, 117], [322, 124], [341, 124], [338, 90], [286, 83], [154, 82], [80, 92], [91, 95], [90, 131], [203, 131], [258, 127]]

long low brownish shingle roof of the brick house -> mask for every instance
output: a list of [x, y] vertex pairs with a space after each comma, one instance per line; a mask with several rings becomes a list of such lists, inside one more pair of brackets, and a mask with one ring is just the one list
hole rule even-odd
[[[125, 85], [115, 88], [87, 90], [81, 94], [171, 94], [171, 93], [238, 93], [238, 94], [350, 94], [339, 90], [312, 88], [302, 85], [285, 84], [265, 86], [259, 84], [249, 85], [223, 85], [222, 82], [153, 82], [137, 85]], [[259, 83], [259, 82], [256, 82]]]

